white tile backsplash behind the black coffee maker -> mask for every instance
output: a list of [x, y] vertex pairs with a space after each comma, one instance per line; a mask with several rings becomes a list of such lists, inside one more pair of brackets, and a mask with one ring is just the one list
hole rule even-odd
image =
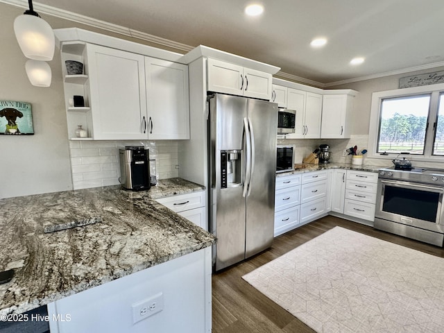
[[146, 146], [150, 160], [156, 160], [158, 179], [175, 178], [178, 170], [178, 142], [164, 141], [70, 141], [74, 189], [118, 185], [119, 148]]

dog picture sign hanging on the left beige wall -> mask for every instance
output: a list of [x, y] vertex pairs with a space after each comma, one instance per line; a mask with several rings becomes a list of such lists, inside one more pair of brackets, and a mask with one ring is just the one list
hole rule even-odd
[[0, 135], [33, 135], [31, 104], [0, 101]]

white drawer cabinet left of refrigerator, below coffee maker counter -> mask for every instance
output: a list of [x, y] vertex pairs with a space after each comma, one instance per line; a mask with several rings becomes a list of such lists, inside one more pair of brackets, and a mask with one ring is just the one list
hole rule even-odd
[[205, 230], [208, 230], [205, 191], [196, 191], [189, 194], [178, 194], [167, 196], [156, 200], [158, 203], [168, 207], [173, 212], [185, 217]]

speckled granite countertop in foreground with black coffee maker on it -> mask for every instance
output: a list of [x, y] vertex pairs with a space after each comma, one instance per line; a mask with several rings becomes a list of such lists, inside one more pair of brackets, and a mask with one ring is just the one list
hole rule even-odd
[[[214, 244], [155, 199], [202, 191], [180, 178], [149, 191], [96, 187], [0, 199], [0, 314], [19, 314]], [[69, 221], [87, 224], [45, 233]], [[88, 223], [92, 223], [89, 224]]]

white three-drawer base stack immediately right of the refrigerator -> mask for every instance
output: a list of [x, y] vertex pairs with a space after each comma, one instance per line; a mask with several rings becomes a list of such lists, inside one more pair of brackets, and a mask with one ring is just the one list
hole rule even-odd
[[276, 177], [275, 237], [296, 228], [299, 224], [301, 175]]

